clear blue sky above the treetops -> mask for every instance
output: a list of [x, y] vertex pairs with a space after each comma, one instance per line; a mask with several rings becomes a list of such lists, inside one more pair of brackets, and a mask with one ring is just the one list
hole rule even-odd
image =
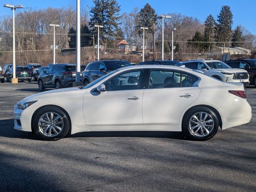
[[[92, 6], [92, 0], [80, 0], [81, 7]], [[130, 12], [134, 7], [142, 8], [149, 3], [157, 14], [171, 12], [182, 13], [186, 16], [197, 17], [200, 21], [212, 14], [214, 18], [220, 13], [221, 6], [229, 5], [233, 13], [233, 29], [241, 24], [250, 32], [256, 35], [255, 8], [256, 0], [117, 0], [121, 5], [122, 12]], [[211, 3], [210, 3], [211, 2]], [[12, 14], [10, 10], [4, 8], [4, 3], [22, 4], [24, 7], [60, 8], [71, 4], [76, 6], [76, 0], [1, 0], [0, 16]]]

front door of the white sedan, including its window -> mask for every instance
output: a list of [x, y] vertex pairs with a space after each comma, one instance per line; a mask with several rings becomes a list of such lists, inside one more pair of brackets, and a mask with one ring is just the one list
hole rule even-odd
[[143, 125], [142, 78], [144, 70], [124, 72], [104, 83], [106, 92], [84, 94], [83, 113], [86, 125]]

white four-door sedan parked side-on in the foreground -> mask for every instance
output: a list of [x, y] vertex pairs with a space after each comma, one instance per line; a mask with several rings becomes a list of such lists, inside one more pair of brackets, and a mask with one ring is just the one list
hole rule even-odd
[[51, 90], [14, 106], [15, 129], [43, 140], [88, 131], [178, 131], [192, 140], [250, 122], [242, 83], [189, 68], [130, 66], [84, 87]]

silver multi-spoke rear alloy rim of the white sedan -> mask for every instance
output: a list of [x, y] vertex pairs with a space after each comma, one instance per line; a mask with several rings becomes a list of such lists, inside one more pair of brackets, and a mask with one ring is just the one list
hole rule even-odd
[[189, 132], [194, 136], [208, 136], [214, 129], [214, 119], [206, 112], [197, 112], [189, 120]]

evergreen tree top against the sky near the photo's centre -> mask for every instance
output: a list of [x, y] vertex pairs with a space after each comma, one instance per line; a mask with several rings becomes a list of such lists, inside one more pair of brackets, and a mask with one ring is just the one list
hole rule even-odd
[[153, 33], [153, 24], [156, 23], [156, 16], [156, 11], [147, 3], [138, 14], [138, 25], [136, 28], [148, 27], [145, 33]]

